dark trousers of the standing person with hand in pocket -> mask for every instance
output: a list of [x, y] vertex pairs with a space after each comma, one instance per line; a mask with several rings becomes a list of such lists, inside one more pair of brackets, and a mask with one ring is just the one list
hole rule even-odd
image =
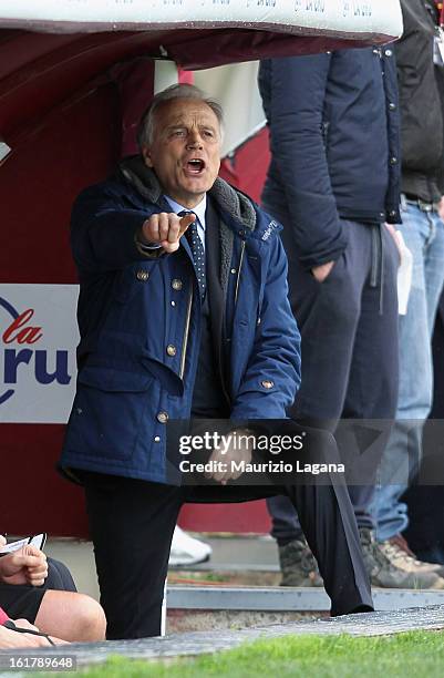
[[[384, 225], [342, 220], [345, 251], [323, 282], [303, 270], [297, 258], [288, 215], [266, 206], [283, 223], [289, 259], [290, 302], [301, 332], [302, 382], [291, 415], [335, 431], [343, 419], [393, 420], [397, 399], [399, 256]], [[287, 224], [287, 228], [286, 228]], [[373, 473], [389, 431], [380, 436]], [[350, 452], [341, 449], [345, 459]], [[349, 486], [360, 527], [373, 527], [369, 505], [374, 486]], [[288, 499], [268, 501], [272, 535], [300, 536], [298, 516]]]

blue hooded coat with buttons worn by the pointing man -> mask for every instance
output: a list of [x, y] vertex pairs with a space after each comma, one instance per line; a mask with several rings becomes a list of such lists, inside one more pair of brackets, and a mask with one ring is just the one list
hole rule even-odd
[[[281, 227], [220, 178], [209, 195], [220, 218], [231, 418], [282, 419], [299, 387], [300, 353]], [[157, 258], [137, 248], [143, 223], [159, 212], [171, 207], [138, 158], [74, 205], [81, 342], [65, 470], [167, 480], [165, 424], [190, 414], [202, 311], [185, 237]]]

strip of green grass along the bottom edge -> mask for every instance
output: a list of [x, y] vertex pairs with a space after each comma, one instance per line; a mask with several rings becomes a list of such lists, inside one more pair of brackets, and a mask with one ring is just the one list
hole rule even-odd
[[[66, 676], [66, 674], [64, 674]], [[54, 674], [52, 674], [54, 676]], [[113, 657], [82, 678], [442, 678], [444, 631], [376, 638], [291, 636], [200, 656], [145, 662]]]

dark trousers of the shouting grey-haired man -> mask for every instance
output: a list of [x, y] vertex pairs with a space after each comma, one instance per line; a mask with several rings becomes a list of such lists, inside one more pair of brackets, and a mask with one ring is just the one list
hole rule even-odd
[[344, 484], [175, 487], [118, 476], [83, 476], [107, 637], [161, 633], [171, 542], [184, 502], [239, 502], [285, 493], [324, 579], [332, 615], [372, 609], [370, 584]]

